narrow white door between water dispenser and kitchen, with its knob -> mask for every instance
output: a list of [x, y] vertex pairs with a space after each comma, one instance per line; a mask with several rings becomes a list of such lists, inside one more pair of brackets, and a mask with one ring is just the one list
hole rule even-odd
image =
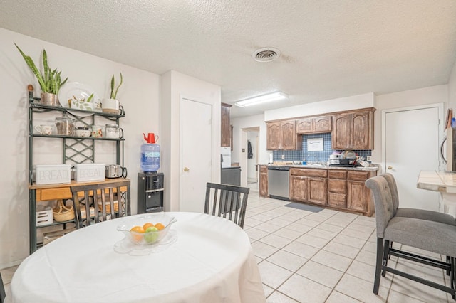
[[182, 98], [180, 110], [180, 210], [203, 213], [212, 172], [212, 105]]

